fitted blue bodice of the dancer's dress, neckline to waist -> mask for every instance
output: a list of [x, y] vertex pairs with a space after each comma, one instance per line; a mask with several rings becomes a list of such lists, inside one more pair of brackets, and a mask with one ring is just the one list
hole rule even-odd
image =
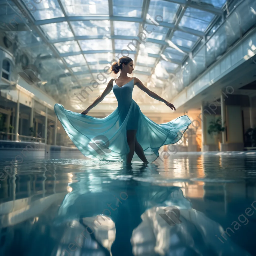
[[124, 84], [123, 86], [119, 87], [115, 80], [113, 80], [113, 92], [118, 102], [118, 106], [129, 105], [132, 102], [132, 91], [134, 88], [134, 78]]

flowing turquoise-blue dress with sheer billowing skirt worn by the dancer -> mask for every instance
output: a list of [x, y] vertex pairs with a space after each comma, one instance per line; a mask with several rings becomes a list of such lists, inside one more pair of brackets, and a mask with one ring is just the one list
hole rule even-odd
[[[121, 87], [113, 80], [118, 107], [105, 118], [72, 112], [61, 104], [55, 104], [54, 110], [59, 121], [83, 155], [94, 160], [125, 162], [130, 152], [126, 130], [137, 130], [137, 141], [151, 163], [159, 156], [160, 147], [180, 140], [191, 123], [188, 116], [180, 116], [163, 124], [153, 122], [132, 99], [133, 88], [134, 79]], [[136, 153], [133, 161], [141, 161]]]

